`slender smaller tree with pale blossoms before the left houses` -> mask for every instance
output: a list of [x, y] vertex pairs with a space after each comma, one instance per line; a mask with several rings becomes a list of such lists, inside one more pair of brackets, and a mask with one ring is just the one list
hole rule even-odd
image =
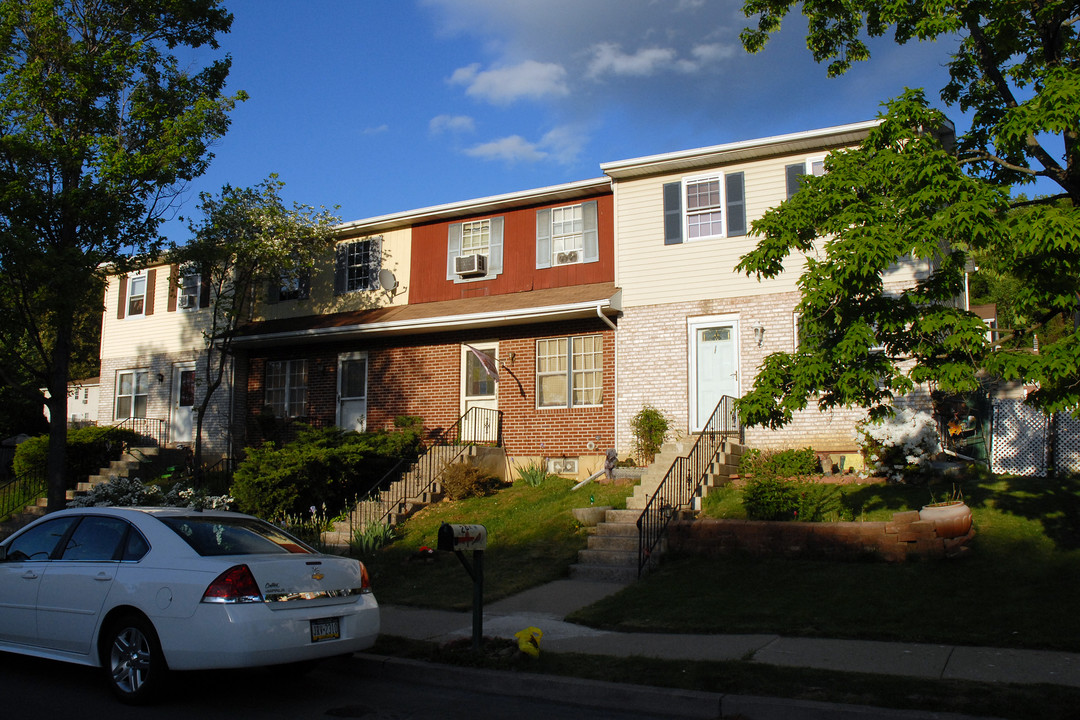
[[[233, 358], [232, 342], [254, 317], [267, 293], [283, 286], [305, 293], [315, 259], [334, 244], [340, 218], [325, 208], [281, 198], [284, 182], [271, 176], [254, 188], [226, 186], [200, 196], [202, 217], [192, 237], [174, 245], [170, 257], [210, 285], [210, 318], [202, 329], [202, 373], [197, 383], [194, 466], [202, 466], [206, 413]], [[183, 272], [181, 272], [183, 274]], [[278, 298], [274, 297], [274, 300]]]

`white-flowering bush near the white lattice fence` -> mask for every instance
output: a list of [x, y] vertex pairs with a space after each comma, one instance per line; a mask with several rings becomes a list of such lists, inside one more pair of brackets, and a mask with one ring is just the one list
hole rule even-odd
[[893, 483], [912, 479], [942, 451], [937, 423], [929, 412], [910, 408], [859, 426], [866, 466]]

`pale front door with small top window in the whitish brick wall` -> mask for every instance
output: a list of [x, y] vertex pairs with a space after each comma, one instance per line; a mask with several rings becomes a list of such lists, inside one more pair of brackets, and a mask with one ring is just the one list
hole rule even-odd
[[708, 422], [725, 395], [739, 397], [739, 323], [690, 324], [691, 431]]

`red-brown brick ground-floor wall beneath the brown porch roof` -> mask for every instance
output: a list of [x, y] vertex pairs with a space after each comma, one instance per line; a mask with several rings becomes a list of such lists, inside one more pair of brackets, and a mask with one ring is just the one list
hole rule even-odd
[[[602, 335], [604, 395], [599, 407], [536, 406], [536, 341], [575, 335]], [[429, 434], [450, 427], [461, 416], [461, 343], [498, 342], [498, 407], [503, 439], [512, 456], [570, 456], [603, 452], [615, 443], [615, 334], [599, 320], [443, 332], [364, 342], [291, 345], [251, 351], [246, 386], [238, 394], [247, 418], [246, 440], [258, 438], [255, 416], [265, 403], [267, 361], [308, 361], [308, 415], [318, 423], [337, 421], [339, 353], [367, 353], [367, 427], [391, 429], [404, 415], [423, 418]], [[589, 444], [594, 445], [593, 448]]]

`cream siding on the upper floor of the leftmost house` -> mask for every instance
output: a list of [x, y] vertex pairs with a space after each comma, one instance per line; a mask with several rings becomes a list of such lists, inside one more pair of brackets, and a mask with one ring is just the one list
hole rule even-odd
[[168, 266], [157, 266], [153, 314], [117, 318], [119, 276], [109, 277], [102, 321], [102, 358], [175, 354], [203, 348], [210, 310], [168, 311]]

